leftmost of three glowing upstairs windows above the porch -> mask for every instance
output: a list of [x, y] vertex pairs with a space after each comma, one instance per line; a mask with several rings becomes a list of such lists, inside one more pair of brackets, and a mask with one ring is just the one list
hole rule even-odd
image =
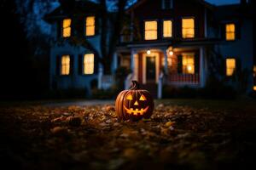
[[145, 21], [145, 40], [157, 39], [157, 21]]

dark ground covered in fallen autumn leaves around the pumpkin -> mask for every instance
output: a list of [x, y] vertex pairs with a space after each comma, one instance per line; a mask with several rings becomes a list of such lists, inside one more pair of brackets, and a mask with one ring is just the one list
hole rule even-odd
[[0, 158], [9, 169], [249, 169], [255, 105], [157, 100], [150, 119], [123, 122], [112, 101], [2, 103]]

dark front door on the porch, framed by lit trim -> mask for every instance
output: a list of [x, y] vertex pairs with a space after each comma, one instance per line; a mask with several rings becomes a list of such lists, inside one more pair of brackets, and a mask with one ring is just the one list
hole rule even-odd
[[155, 56], [146, 57], [147, 82], [155, 82]]

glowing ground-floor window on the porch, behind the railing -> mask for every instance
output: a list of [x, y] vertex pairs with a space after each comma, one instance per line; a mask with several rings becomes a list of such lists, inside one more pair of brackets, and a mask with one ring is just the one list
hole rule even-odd
[[183, 74], [195, 74], [195, 56], [193, 54], [183, 55]]

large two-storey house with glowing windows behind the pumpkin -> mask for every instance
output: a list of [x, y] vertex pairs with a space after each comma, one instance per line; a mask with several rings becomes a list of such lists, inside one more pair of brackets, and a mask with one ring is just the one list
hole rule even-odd
[[[245, 0], [224, 6], [213, 6], [203, 0], [138, 0], [126, 10], [130, 24], [120, 32], [112, 69], [131, 68], [125, 88], [135, 79], [145, 88], [157, 91], [159, 98], [163, 84], [204, 88], [207, 79], [216, 72], [224, 72], [226, 83], [235, 84], [234, 88], [243, 82], [247, 93], [251, 92], [253, 68], [256, 71], [252, 6], [251, 1]], [[95, 32], [95, 23], [101, 19], [96, 17], [96, 3], [84, 8], [81, 36], [99, 48], [101, 35]], [[69, 12], [60, 7], [48, 17], [53, 34], [64, 41], [75, 29], [70, 17], [73, 13]], [[102, 73], [98, 72], [101, 65], [90, 49], [57, 44], [52, 44], [50, 53], [51, 88], [90, 89], [93, 79], [102, 88]], [[218, 67], [219, 63], [224, 68]]]

